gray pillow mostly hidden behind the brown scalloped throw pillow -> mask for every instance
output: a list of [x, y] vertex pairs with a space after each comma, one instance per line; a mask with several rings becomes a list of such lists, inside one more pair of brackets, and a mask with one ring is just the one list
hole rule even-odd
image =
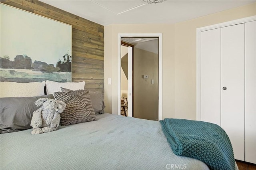
[[[63, 87], [60, 87], [60, 89], [62, 92], [73, 91], [70, 89], [63, 88]], [[95, 91], [95, 92], [89, 91], [89, 93], [90, 93], [92, 107], [94, 109], [95, 115], [105, 113], [104, 112], [105, 105], [104, 105], [102, 94], [99, 91]]]

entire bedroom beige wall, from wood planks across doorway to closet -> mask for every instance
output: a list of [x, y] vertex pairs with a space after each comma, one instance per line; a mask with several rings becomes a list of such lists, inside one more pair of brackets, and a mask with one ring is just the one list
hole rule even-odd
[[[256, 15], [256, 3], [176, 24], [105, 26], [105, 111], [118, 111], [118, 33], [162, 33], [163, 119], [196, 119], [196, 28]], [[108, 78], [112, 85], [108, 85]]]

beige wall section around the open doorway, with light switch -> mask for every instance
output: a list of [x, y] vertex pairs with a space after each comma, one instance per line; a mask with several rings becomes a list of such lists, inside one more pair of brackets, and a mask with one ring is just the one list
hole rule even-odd
[[[162, 33], [163, 118], [174, 117], [174, 25], [114, 24], [105, 26], [104, 29], [105, 111], [112, 114], [118, 113], [118, 33]], [[110, 77], [112, 85], [108, 85]]]

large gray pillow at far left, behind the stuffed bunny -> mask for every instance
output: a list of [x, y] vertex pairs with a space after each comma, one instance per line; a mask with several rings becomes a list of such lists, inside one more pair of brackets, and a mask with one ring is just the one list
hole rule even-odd
[[52, 94], [36, 97], [0, 98], [0, 133], [17, 132], [32, 128], [30, 126], [32, 115], [38, 109], [34, 102], [42, 97], [54, 99]]

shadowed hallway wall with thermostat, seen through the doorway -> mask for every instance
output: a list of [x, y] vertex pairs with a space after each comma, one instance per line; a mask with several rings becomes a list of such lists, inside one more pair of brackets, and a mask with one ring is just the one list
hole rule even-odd
[[[141, 119], [158, 120], [158, 54], [134, 48], [133, 113]], [[148, 75], [143, 79], [142, 75]], [[151, 84], [154, 79], [154, 84]]]

